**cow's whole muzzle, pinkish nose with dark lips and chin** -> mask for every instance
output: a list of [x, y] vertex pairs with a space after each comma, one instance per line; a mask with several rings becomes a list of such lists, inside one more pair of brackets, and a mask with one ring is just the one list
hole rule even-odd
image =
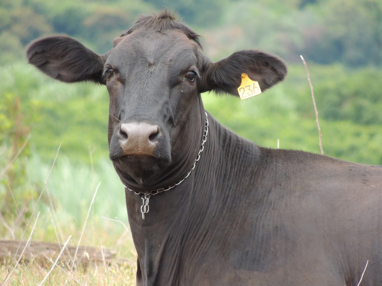
[[171, 162], [168, 132], [150, 121], [117, 125], [109, 149], [109, 157], [125, 185], [152, 185]]

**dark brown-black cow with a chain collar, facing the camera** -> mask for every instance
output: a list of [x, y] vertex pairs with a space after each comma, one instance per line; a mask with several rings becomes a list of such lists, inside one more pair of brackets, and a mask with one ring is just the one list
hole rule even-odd
[[202, 92], [239, 96], [243, 75], [262, 92], [282, 81], [277, 56], [213, 63], [167, 11], [140, 16], [104, 55], [64, 35], [26, 55], [53, 79], [107, 87], [138, 286], [382, 285], [381, 166], [264, 148], [204, 109]]

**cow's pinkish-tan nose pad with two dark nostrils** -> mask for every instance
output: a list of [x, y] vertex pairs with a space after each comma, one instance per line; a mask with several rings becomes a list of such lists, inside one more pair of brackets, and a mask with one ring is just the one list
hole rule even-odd
[[154, 156], [154, 149], [161, 132], [158, 125], [144, 122], [121, 124], [121, 148], [123, 156]]

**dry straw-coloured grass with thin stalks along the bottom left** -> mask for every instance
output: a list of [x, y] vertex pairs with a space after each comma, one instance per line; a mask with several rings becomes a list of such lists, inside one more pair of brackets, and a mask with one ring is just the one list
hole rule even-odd
[[[118, 218], [104, 219], [91, 214], [100, 183], [94, 188], [93, 198], [89, 198], [86, 219], [81, 222], [82, 227], [79, 229], [68, 225], [65, 219], [56, 214], [46, 185], [49, 177], [50, 174], [39, 199], [34, 202], [34, 210], [28, 221], [24, 219], [22, 210], [18, 210], [13, 221], [6, 221], [3, 217], [0, 221], [2, 238], [20, 241], [13, 251], [0, 244], [0, 252], [8, 253], [0, 258], [0, 285], [135, 285], [136, 253], [128, 228]], [[92, 185], [95, 186], [95, 182]], [[37, 212], [43, 193], [50, 206], [43, 210], [39, 207], [40, 211]], [[33, 253], [30, 251], [31, 245], [36, 244], [31, 241], [36, 240], [49, 242], [49, 245], [54, 243], [57, 249]], [[79, 251], [84, 246], [98, 249], [102, 254], [101, 259], [87, 259], [84, 263], [86, 259], [83, 252]], [[104, 253], [113, 253], [113, 259], [108, 259]]]

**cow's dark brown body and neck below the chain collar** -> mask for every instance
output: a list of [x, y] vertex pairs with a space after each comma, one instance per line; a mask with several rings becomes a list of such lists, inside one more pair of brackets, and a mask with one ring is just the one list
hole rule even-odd
[[[382, 283], [382, 168], [261, 148], [210, 118], [194, 173], [153, 196], [126, 191], [138, 285]], [[155, 281], [155, 283], [154, 283]]]

